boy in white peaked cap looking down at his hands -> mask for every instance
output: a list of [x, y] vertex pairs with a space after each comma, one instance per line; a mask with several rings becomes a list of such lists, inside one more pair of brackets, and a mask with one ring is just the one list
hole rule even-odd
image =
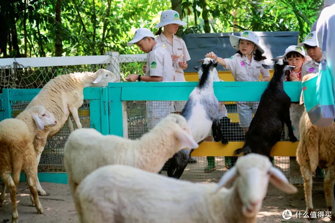
[[[144, 76], [139, 74], [128, 75], [130, 82], [172, 82], [174, 69], [172, 59], [159, 43], [156, 43], [153, 33], [147, 28], [139, 28], [134, 38], [127, 43], [128, 46], [136, 44], [140, 50], [147, 53], [147, 69]], [[147, 102], [147, 127], [152, 129], [162, 118], [174, 112], [173, 101], [148, 101]]]

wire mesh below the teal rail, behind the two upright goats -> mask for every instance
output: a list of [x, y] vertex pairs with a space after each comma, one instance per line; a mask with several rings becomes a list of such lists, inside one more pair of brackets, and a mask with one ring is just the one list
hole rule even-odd
[[[127, 101], [127, 119], [128, 119], [128, 137], [131, 139], [139, 138], [144, 133], [150, 131], [159, 120], [170, 113], [179, 113], [178, 105], [185, 104], [182, 102], [171, 101]], [[248, 102], [252, 105], [257, 105], [258, 102]], [[236, 102], [220, 102], [220, 127], [223, 135], [229, 142], [244, 141], [244, 132], [247, 127], [241, 126], [238, 114], [238, 103]], [[251, 109], [244, 111], [246, 116], [253, 117]], [[251, 120], [250, 120], [251, 121]], [[283, 128], [281, 140], [287, 140], [287, 130]], [[205, 139], [207, 142], [213, 142], [212, 133]], [[206, 156], [194, 157], [196, 163], [189, 163], [184, 170], [181, 179], [187, 179], [194, 182], [216, 181], [223, 175], [223, 171], [227, 171], [237, 160], [237, 157], [217, 156], [214, 158], [215, 170], [205, 172], [208, 165]], [[286, 177], [289, 177], [289, 157], [274, 157], [274, 166], [279, 168]], [[161, 172], [166, 175], [166, 171]], [[213, 180], [214, 179], [214, 180]]]

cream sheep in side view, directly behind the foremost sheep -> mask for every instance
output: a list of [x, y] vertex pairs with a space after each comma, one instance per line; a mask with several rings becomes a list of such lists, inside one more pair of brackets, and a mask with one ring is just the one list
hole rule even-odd
[[101, 166], [125, 164], [158, 173], [176, 152], [182, 148], [197, 147], [186, 119], [170, 114], [150, 132], [135, 140], [104, 136], [95, 129], [75, 130], [65, 143], [64, 165], [74, 195], [78, 184]]

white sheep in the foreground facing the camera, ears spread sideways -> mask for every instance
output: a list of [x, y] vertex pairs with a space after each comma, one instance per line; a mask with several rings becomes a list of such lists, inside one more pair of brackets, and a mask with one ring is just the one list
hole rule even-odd
[[[235, 181], [229, 189], [223, 186]], [[296, 193], [266, 156], [248, 154], [218, 184], [191, 183], [124, 165], [108, 165], [78, 186], [79, 222], [256, 222], [268, 182]]]

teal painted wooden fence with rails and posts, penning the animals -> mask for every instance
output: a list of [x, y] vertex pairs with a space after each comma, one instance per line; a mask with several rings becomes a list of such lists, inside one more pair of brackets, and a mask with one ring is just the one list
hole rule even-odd
[[[125, 101], [186, 101], [197, 82], [109, 83], [106, 88], [85, 88], [90, 100], [90, 124], [102, 134], [123, 136]], [[214, 82], [219, 101], [259, 101], [268, 82]], [[285, 82], [284, 90], [292, 102], [298, 102], [300, 82]], [[0, 94], [0, 120], [10, 118], [11, 101], [34, 98], [40, 89], [3, 89]], [[66, 173], [39, 173], [42, 182], [67, 183]], [[24, 181], [24, 177], [21, 178]]]

